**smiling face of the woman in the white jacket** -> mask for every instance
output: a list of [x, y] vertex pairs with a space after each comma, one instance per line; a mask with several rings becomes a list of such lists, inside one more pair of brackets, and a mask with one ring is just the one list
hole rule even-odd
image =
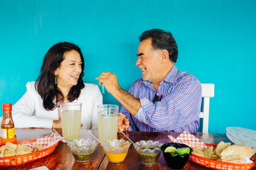
[[59, 88], [71, 88], [77, 84], [82, 72], [82, 61], [79, 52], [71, 50], [64, 53], [64, 60], [55, 70], [57, 86]]

